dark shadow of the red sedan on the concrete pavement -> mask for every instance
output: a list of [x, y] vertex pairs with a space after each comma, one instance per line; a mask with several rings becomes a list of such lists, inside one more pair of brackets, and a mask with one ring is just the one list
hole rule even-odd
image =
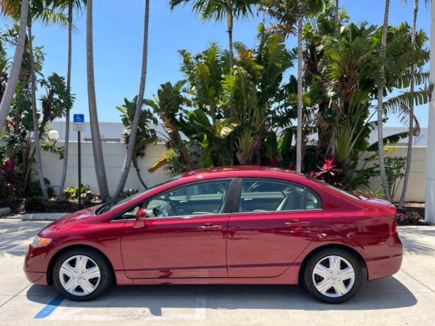
[[[33, 285], [27, 299], [47, 304], [57, 292], [52, 287]], [[329, 305], [309, 296], [302, 287], [279, 285], [150, 285], [112, 287], [106, 294], [89, 302], [64, 299], [60, 307], [74, 309], [74, 314], [86, 315], [95, 308], [138, 308], [141, 313], [164, 316], [167, 309], [285, 309], [307, 311], [346, 311], [396, 309], [414, 306], [417, 299], [395, 277], [390, 276], [363, 284], [360, 293], [347, 303]], [[148, 311], [147, 311], [148, 310]], [[67, 311], [67, 310], [64, 310]], [[165, 312], [166, 311], [166, 312]], [[107, 311], [101, 311], [107, 314]], [[110, 310], [114, 316], [125, 314]], [[138, 312], [139, 314], [139, 312]], [[186, 313], [189, 314], [189, 313]]]

